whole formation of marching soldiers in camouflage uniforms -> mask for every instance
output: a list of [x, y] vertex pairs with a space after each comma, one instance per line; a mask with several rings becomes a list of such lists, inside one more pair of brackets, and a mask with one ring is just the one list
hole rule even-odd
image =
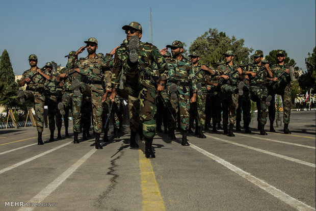
[[[267, 135], [267, 107], [274, 99], [273, 95], [280, 94], [284, 104], [284, 133], [290, 133], [290, 82], [295, 80], [295, 71], [292, 66], [284, 64], [283, 51], [277, 54], [278, 63], [270, 67], [268, 62], [263, 60], [261, 50], [255, 52], [254, 63], [238, 65], [233, 62], [233, 51], [228, 50], [223, 54], [225, 61], [213, 68], [199, 64], [199, 55], [195, 53], [190, 55], [191, 61], [186, 59], [182, 55], [183, 43], [178, 40], [160, 51], [150, 43], [141, 42], [142, 27], [138, 22], [124, 25], [122, 29], [126, 39], [110, 54], [96, 54], [98, 42], [93, 37], [89, 38], [85, 41], [85, 46], [71, 51], [66, 56], [66, 68], [58, 75], [43, 72], [36, 65], [37, 57], [30, 56], [31, 69], [23, 73], [19, 82], [20, 86], [28, 84], [27, 91], [20, 91], [18, 97], [21, 101], [35, 102], [39, 144], [43, 143], [42, 113], [47, 96], [43, 90], [47, 83], [62, 89], [62, 99], [60, 102], [56, 101], [59, 113], [65, 114], [65, 108], [69, 106], [72, 109], [74, 143], [79, 143], [78, 133], [82, 117], [88, 116], [81, 110], [91, 105], [97, 149], [102, 149], [100, 134], [104, 131], [104, 136], [107, 137], [108, 112], [115, 102], [120, 101], [119, 97], [127, 99], [128, 102], [130, 146], [139, 147], [136, 134], [140, 133], [145, 139], [145, 155], [148, 159], [155, 157], [152, 141], [159, 117], [164, 119], [159, 120], [160, 122], [166, 122], [170, 139], [176, 139], [174, 131], [178, 120], [182, 130], [181, 145], [190, 145], [187, 139], [190, 104], [195, 102], [196, 107], [191, 106], [191, 113], [196, 114], [196, 117], [191, 119], [196, 119], [199, 138], [206, 138], [203, 134], [205, 113], [208, 111], [205, 111], [206, 102], [212, 104], [213, 125], [221, 121], [222, 107], [224, 133], [231, 137], [234, 136], [236, 110], [240, 107], [243, 110], [245, 132], [249, 133], [250, 98], [257, 102], [260, 134]], [[171, 49], [172, 55], [168, 48]], [[88, 56], [78, 59], [78, 55], [85, 49]], [[271, 83], [269, 89], [268, 82]], [[57, 92], [57, 88], [55, 90]], [[54, 98], [54, 95], [55, 92], [50, 91], [48, 98]], [[85, 100], [91, 104], [84, 105]], [[56, 103], [52, 105], [55, 108]], [[159, 104], [163, 109], [157, 112]], [[240, 120], [237, 120], [236, 125], [240, 127]], [[89, 130], [85, 126], [83, 128], [85, 131]], [[213, 128], [214, 130], [216, 128]]]

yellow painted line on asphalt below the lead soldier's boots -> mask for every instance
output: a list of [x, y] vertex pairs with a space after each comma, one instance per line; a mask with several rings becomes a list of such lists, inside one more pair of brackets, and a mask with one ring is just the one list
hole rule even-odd
[[159, 186], [156, 181], [155, 174], [151, 166], [150, 159], [146, 159], [143, 151], [144, 143], [138, 142], [140, 148], [139, 150], [139, 168], [141, 175], [141, 188], [143, 193], [143, 209], [144, 211], [150, 210], [166, 210], [164, 200], [161, 197]]

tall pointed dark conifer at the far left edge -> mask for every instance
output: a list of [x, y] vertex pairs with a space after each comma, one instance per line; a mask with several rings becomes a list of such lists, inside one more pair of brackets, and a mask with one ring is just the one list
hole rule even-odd
[[6, 107], [8, 114], [8, 109], [16, 107], [18, 104], [15, 97], [18, 92], [18, 86], [15, 83], [14, 72], [6, 49], [2, 52], [0, 57], [0, 82], [2, 83], [2, 86], [4, 86], [2, 90], [2, 97], [4, 98], [1, 100], [0, 104]]

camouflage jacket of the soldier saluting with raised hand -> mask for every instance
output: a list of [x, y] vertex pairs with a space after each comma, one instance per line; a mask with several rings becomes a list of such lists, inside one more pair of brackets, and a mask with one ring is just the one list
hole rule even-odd
[[102, 57], [98, 57], [96, 54], [94, 58], [85, 57], [80, 58], [77, 61], [75, 61], [74, 56], [69, 56], [66, 68], [79, 68], [80, 73], [85, 75], [88, 80], [96, 81], [98, 83], [103, 81], [106, 85], [105, 87], [102, 87], [101, 84], [95, 83], [92, 86], [94, 89], [102, 90], [104, 88], [107, 91], [111, 91], [110, 89], [108, 89], [108, 87], [111, 87], [111, 74], [108, 67], [109, 63], [109, 56], [106, 56], [103, 59]]

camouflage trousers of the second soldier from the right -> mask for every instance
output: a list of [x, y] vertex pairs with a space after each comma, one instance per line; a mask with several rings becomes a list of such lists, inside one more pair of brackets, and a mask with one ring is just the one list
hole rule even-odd
[[268, 89], [267, 87], [259, 87], [259, 86], [250, 86], [249, 91], [251, 97], [256, 101], [259, 106], [258, 107], [258, 117], [259, 122], [261, 125], [266, 125], [267, 117], [268, 117], [268, 110], [266, 106], [266, 98], [268, 96]]

